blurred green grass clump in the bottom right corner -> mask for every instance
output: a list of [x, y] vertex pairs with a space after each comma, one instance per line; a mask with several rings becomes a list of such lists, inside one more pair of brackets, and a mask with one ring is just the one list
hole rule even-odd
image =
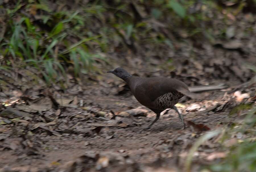
[[222, 163], [211, 165], [212, 171], [256, 171], [255, 114], [256, 107], [247, 114], [243, 125], [231, 129], [229, 133], [243, 133], [247, 138], [232, 146], [228, 157]]

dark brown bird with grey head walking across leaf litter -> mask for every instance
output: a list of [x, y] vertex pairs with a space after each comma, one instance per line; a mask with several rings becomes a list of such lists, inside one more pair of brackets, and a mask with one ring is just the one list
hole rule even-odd
[[132, 76], [121, 67], [118, 67], [113, 71], [108, 71], [107, 73], [113, 73], [115, 76], [124, 80], [137, 101], [156, 113], [155, 120], [147, 127], [147, 129], [159, 119], [160, 113], [167, 108], [172, 108], [179, 114], [179, 118], [184, 127], [183, 129], [185, 129], [183, 116], [175, 106], [181, 97], [184, 95], [189, 96], [190, 94], [190, 91], [184, 82], [174, 78], [145, 78]]

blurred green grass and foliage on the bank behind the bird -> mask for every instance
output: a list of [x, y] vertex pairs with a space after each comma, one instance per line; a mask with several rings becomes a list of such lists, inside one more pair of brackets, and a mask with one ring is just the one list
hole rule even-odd
[[[179, 50], [179, 42], [201, 47], [207, 41], [234, 38], [239, 14], [254, 21], [255, 0], [1, 0], [1, 69], [31, 66], [49, 84], [98, 72], [110, 56], [122, 53], [147, 58]], [[213, 20], [218, 18], [218, 20]], [[243, 26], [247, 37], [255, 35]], [[244, 36], [243, 35], [243, 36]], [[162, 54], [161, 54], [162, 53]], [[146, 56], [146, 57], [145, 57]], [[148, 57], [150, 58], [150, 57]]]

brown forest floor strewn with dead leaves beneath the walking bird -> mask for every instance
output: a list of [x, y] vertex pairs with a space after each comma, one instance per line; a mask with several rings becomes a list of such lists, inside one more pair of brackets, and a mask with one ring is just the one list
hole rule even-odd
[[[226, 58], [179, 59], [175, 73], [126, 68], [145, 77], [172, 75], [189, 86], [226, 86], [181, 99], [177, 107], [187, 123], [184, 130], [172, 109], [144, 129], [155, 114], [109, 73], [90, 77], [85, 84], [69, 77], [64, 92], [58, 86], [22, 85], [31, 81], [22, 70], [2, 74], [1, 101], [6, 107], [0, 113], [0, 171], [183, 171], [191, 146], [206, 130], [240, 124], [247, 110], [230, 116], [231, 109], [255, 102], [255, 84], [248, 83], [253, 73], [241, 65], [241, 61], [255, 64], [255, 58], [231, 53]], [[227, 147], [247, 137], [234, 132], [223, 146], [220, 135], [194, 152], [192, 171], [219, 162], [227, 156]]]

